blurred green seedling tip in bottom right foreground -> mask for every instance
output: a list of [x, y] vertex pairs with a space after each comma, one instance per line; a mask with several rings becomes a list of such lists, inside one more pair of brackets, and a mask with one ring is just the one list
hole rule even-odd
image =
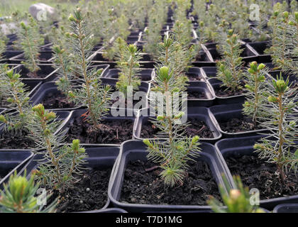
[[221, 185], [219, 191], [221, 192], [223, 204], [214, 199], [214, 197], [211, 197], [208, 201], [211, 209], [216, 213], [264, 213], [258, 206], [250, 204], [249, 189], [248, 187], [243, 186], [240, 177], [234, 176], [233, 180], [236, 183], [236, 189], [232, 189], [229, 186], [226, 177], [224, 177], [224, 183], [228, 192], [226, 192]]

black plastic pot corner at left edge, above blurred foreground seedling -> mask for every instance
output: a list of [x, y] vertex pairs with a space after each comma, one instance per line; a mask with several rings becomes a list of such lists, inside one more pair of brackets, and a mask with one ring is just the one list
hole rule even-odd
[[0, 189], [9, 181], [9, 176], [21, 171], [31, 160], [33, 153], [30, 150], [0, 150]]

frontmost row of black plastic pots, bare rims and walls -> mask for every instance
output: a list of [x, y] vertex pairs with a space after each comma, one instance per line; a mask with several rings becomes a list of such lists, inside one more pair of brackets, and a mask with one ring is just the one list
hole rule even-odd
[[[215, 179], [216, 183], [223, 185], [223, 175], [228, 179], [230, 187], [235, 187], [233, 179], [231, 177], [231, 171], [226, 164], [226, 158], [240, 158], [243, 155], [253, 155], [253, 144], [261, 138], [260, 135], [248, 136], [244, 138], [228, 138], [219, 140], [216, 145], [209, 143], [202, 143], [200, 148], [202, 153], [197, 157], [197, 161], [206, 162], [211, 170], [211, 175]], [[211, 207], [207, 205], [203, 206], [187, 206], [187, 205], [157, 205], [157, 204], [128, 204], [121, 202], [121, 189], [123, 187], [124, 172], [128, 162], [135, 160], [147, 160], [146, 145], [140, 140], [128, 140], [122, 143], [119, 153], [119, 147], [116, 145], [89, 145], [87, 148], [87, 167], [96, 168], [99, 170], [110, 168], [111, 177], [109, 182], [109, 199], [106, 205], [100, 210], [86, 211], [86, 212], [114, 212], [125, 209], [128, 212], [166, 212], [166, 211], [182, 211], [182, 212], [210, 212]], [[3, 155], [3, 156], [2, 156]], [[9, 172], [1, 183], [7, 182], [9, 175], [14, 170], [19, 170], [18, 174], [23, 175], [23, 171], [27, 170], [28, 177], [31, 174], [31, 170], [35, 170], [38, 167], [37, 160], [40, 160], [42, 155], [35, 155], [30, 151], [1, 151], [0, 162], [3, 162], [4, 169]], [[9, 167], [8, 167], [9, 166]], [[5, 172], [5, 170], [4, 170]], [[1, 184], [3, 187], [3, 184]], [[272, 210], [274, 212], [296, 212], [298, 196], [280, 197], [275, 199], [264, 199], [260, 201], [260, 206], [264, 209]], [[108, 207], [116, 207], [121, 210], [106, 210]]]

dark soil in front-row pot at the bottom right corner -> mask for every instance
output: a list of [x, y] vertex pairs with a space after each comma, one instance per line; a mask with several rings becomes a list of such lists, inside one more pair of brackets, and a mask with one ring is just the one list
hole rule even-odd
[[227, 157], [232, 175], [239, 175], [243, 184], [260, 191], [260, 199], [273, 199], [298, 194], [298, 178], [289, 172], [284, 183], [277, 175], [277, 166], [260, 160], [257, 156]]

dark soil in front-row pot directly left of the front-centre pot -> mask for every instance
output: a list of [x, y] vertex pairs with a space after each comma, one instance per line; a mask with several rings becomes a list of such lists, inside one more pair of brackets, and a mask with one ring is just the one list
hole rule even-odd
[[[57, 212], [92, 211], [101, 209], [108, 200], [109, 178], [111, 169], [85, 170], [75, 183], [63, 195], [64, 200], [57, 205]], [[57, 196], [57, 192], [53, 197]]]

